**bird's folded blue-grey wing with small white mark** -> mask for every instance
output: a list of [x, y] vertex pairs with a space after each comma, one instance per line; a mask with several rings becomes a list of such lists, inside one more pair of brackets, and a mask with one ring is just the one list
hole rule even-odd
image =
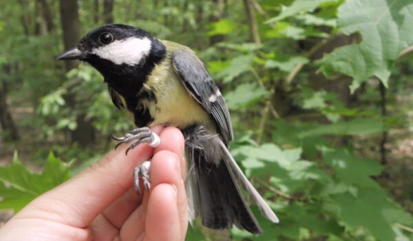
[[202, 105], [218, 125], [222, 140], [228, 145], [233, 140], [231, 117], [224, 97], [204, 63], [191, 49], [182, 47], [173, 52], [172, 65], [187, 92]]

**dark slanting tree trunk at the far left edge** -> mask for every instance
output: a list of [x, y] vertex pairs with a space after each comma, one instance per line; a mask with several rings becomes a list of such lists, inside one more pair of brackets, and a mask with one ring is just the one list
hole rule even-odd
[[[4, 74], [10, 74], [10, 65], [3, 67]], [[4, 81], [0, 82], [0, 126], [3, 132], [7, 134], [3, 136], [5, 140], [19, 140], [19, 132], [16, 124], [13, 121], [10, 108], [7, 103], [7, 88]]]

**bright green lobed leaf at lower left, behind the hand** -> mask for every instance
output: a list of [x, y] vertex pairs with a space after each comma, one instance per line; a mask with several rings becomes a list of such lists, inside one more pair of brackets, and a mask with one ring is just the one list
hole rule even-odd
[[45, 169], [36, 174], [15, 155], [9, 166], [0, 167], [0, 209], [19, 211], [31, 200], [70, 178], [70, 165], [50, 154]]

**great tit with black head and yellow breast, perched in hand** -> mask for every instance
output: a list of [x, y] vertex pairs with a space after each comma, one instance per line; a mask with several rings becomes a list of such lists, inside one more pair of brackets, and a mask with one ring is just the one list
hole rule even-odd
[[[229, 153], [233, 140], [231, 118], [224, 98], [204, 63], [184, 45], [154, 38], [129, 25], [103, 25], [89, 32], [76, 48], [58, 57], [79, 59], [105, 78], [112, 101], [126, 109], [138, 127], [118, 138], [120, 143], [155, 143], [152, 125], [178, 127], [185, 138], [188, 163], [187, 189], [190, 221], [200, 216], [211, 229], [230, 229], [235, 224], [261, 233], [246, 198], [260, 207], [262, 215], [279, 222], [273, 210], [255, 190]], [[128, 149], [128, 150], [129, 150]], [[149, 165], [134, 172], [149, 189]]]

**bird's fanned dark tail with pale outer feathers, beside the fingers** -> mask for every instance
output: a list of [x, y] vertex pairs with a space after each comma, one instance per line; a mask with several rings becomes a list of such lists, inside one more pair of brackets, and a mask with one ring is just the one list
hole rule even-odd
[[230, 229], [235, 224], [251, 233], [261, 233], [260, 224], [243, 196], [244, 190], [266, 218], [278, 222], [218, 135], [204, 127], [193, 127], [186, 129], [184, 136], [187, 139], [186, 187], [191, 220], [200, 215], [202, 224], [211, 229]]

